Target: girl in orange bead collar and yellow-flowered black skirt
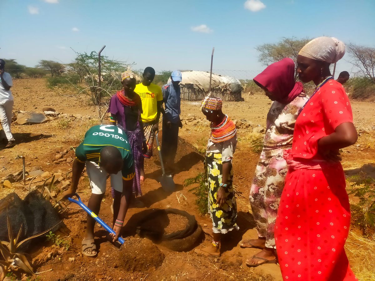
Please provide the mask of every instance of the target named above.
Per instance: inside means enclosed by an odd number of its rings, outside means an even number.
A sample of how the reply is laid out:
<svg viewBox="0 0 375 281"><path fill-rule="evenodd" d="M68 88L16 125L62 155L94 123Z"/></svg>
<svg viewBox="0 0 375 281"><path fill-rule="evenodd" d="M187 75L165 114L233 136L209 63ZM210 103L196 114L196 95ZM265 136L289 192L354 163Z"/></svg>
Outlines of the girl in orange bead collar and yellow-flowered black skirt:
<svg viewBox="0 0 375 281"><path fill-rule="evenodd" d="M195 249L202 256L220 256L222 234L238 230L237 203L234 194L232 159L237 145L237 130L228 115L222 112L223 102L218 97L207 97L202 112L211 122L211 136L205 155L205 173L208 188L208 212L212 228L203 232L213 238L207 248Z"/></svg>

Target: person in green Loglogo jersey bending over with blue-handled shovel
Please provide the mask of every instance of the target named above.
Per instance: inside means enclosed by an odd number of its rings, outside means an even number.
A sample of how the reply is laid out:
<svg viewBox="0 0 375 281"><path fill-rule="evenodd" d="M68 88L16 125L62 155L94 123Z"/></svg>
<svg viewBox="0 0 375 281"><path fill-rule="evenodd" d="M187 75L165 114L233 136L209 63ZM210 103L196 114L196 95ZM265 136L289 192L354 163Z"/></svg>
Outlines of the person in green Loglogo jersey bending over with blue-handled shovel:
<svg viewBox="0 0 375 281"><path fill-rule="evenodd" d="M75 160L72 169L72 184L64 191L61 199L74 196L78 181L86 166L92 194L88 207L98 215L107 183L107 174L111 177L114 188L113 230L110 236L113 242L121 234L124 218L132 198L133 178L135 176L134 161L126 133L113 125L97 125L91 127L85 134L83 142L75 150ZM59 200L61 200L59 199ZM87 215L87 229L82 241L82 253L95 257L98 252L94 242L95 220Z"/></svg>

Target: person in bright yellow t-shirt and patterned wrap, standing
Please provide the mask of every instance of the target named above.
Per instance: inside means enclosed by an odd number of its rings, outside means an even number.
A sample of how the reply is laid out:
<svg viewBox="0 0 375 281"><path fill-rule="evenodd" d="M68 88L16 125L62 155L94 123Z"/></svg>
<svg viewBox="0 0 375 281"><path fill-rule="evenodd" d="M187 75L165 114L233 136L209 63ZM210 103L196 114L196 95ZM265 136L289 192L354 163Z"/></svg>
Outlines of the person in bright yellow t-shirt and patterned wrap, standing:
<svg viewBox="0 0 375 281"><path fill-rule="evenodd" d="M135 86L134 92L141 97L144 136L147 143L145 158L152 157L155 132L159 130L160 113L163 107L163 94L158 85L152 83L155 78L155 70L148 66L143 72L143 81ZM140 182L144 181L144 165L141 167Z"/></svg>

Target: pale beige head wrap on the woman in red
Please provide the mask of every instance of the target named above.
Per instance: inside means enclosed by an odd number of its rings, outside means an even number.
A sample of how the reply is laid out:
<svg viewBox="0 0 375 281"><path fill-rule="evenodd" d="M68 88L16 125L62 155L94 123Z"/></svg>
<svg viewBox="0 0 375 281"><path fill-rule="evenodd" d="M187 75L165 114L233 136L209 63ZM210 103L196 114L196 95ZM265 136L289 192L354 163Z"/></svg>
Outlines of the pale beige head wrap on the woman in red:
<svg viewBox="0 0 375 281"><path fill-rule="evenodd" d="M318 37L303 46L298 54L318 61L336 63L344 57L345 44L335 37Z"/></svg>

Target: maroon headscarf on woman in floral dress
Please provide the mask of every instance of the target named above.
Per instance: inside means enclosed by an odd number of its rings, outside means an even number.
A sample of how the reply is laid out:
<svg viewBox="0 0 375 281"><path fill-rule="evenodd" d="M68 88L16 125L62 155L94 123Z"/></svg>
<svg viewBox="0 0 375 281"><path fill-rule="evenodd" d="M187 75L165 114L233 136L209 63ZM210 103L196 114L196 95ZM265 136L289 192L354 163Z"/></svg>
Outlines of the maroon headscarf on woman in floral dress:
<svg viewBox="0 0 375 281"><path fill-rule="evenodd" d="M267 66L253 80L258 86L271 92L278 102L288 104L303 92L302 83L294 79L295 70L294 61L283 58Z"/></svg>

